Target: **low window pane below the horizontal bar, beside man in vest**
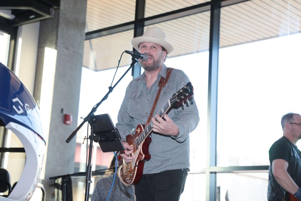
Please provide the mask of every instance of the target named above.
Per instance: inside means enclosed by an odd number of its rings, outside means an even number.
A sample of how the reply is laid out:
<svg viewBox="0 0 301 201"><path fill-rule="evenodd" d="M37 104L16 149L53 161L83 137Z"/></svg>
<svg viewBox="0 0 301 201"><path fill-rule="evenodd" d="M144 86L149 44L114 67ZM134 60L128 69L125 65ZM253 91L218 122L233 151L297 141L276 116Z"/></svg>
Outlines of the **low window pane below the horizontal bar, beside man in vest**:
<svg viewBox="0 0 301 201"><path fill-rule="evenodd" d="M266 201L268 173L219 173L216 177L216 200Z"/></svg>

